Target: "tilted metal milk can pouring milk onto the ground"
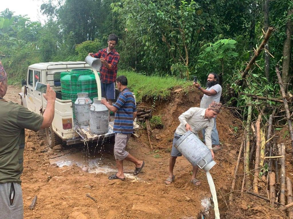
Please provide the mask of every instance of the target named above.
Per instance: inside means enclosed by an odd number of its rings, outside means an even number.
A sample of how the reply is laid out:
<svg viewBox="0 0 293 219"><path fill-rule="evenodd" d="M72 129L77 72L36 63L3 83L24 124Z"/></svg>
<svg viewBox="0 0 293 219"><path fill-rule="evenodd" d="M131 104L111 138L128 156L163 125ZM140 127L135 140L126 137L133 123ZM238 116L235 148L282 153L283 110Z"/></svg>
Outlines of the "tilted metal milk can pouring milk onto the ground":
<svg viewBox="0 0 293 219"><path fill-rule="evenodd" d="M191 131L187 131L182 135L174 147L176 147L193 166L198 166L206 172L216 164L207 146Z"/></svg>

